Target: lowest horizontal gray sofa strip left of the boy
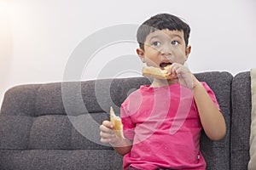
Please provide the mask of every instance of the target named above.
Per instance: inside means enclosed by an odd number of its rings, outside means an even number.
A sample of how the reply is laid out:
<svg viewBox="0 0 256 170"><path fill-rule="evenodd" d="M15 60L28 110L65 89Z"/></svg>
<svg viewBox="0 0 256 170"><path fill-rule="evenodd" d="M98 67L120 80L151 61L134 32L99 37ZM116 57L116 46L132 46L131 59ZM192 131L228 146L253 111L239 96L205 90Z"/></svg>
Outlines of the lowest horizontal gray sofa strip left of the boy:
<svg viewBox="0 0 256 170"><path fill-rule="evenodd" d="M1 150L0 169L84 170L121 169L113 150Z"/></svg>

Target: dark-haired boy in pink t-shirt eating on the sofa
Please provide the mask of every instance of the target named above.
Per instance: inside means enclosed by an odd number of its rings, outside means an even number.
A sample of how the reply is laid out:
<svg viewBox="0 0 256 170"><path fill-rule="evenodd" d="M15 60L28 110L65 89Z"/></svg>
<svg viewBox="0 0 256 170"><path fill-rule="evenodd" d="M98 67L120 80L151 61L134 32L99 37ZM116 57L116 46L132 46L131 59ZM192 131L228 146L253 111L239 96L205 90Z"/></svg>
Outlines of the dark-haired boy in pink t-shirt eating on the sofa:
<svg viewBox="0 0 256 170"><path fill-rule="evenodd" d="M173 77L154 78L121 105L125 139L102 122L101 141L124 156L124 169L206 169L199 150L201 128L212 140L226 133L215 95L184 66L189 57L189 26L172 14L157 14L137 31L137 54L148 66Z"/></svg>

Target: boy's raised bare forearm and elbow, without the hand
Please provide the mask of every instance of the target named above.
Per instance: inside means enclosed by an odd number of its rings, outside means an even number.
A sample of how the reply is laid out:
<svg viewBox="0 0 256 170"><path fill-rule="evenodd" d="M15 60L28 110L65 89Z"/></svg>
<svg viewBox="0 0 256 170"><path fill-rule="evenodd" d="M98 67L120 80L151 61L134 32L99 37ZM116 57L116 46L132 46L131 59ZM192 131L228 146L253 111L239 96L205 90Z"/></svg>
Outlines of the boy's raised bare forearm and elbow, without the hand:
<svg viewBox="0 0 256 170"><path fill-rule="evenodd" d="M218 111L206 88L203 87L194 75L192 75L194 86L191 89L194 94L195 103L199 111L202 127L207 137L212 140L223 139L226 133L224 116Z"/></svg>

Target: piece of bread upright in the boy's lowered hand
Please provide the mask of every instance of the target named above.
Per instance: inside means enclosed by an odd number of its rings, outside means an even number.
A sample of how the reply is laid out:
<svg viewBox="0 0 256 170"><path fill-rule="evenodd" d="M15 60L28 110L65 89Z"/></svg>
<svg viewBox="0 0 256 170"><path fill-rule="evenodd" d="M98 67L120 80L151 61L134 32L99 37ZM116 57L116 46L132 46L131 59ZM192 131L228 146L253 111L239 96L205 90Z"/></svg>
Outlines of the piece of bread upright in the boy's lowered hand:
<svg viewBox="0 0 256 170"><path fill-rule="evenodd" d="M115 136L117 138L125 139L121 118L114 114L112 107L110 107L110 122L113 124L113 131Z"/></svg>

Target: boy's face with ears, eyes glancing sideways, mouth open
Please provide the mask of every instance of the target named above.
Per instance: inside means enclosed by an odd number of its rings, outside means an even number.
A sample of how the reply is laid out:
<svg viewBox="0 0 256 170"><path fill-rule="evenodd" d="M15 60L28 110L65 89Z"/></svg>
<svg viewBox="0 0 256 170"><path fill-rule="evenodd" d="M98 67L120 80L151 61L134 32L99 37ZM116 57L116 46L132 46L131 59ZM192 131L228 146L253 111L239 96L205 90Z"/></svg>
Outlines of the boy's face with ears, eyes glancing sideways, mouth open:
<svg viewBox="0 0 256 170"><path fill-rule="evenodd" d="M137 48L137 54L148 66L163 68L172 63L184 64L191 47L186 47L183 31L158 30L146 37L144 50Z"/></svg>

